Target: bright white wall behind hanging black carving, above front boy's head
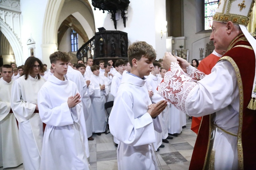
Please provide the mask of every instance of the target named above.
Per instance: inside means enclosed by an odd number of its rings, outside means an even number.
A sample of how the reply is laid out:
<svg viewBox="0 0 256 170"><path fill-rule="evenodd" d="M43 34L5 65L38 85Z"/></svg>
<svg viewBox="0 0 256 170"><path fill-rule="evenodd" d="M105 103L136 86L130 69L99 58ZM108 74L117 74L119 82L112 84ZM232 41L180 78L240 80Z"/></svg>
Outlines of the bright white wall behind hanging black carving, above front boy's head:
<svg viewBox="0 0 256 170"><path fill-rule="evenodd" d="M119 15L117 30L128 33L128 45L136 40L146 41L155 48L157 58L162 58L166 51L166 33L161 39L160 25L161 22L165 23L166 21L165 0L130 0L127 14L126 28L121 15ZM106 30L115 30L114 22L110 18L111 15L108 12L105 11L103 14L96 8L94 11L96 32L100 27L104 27Z"/></svg>

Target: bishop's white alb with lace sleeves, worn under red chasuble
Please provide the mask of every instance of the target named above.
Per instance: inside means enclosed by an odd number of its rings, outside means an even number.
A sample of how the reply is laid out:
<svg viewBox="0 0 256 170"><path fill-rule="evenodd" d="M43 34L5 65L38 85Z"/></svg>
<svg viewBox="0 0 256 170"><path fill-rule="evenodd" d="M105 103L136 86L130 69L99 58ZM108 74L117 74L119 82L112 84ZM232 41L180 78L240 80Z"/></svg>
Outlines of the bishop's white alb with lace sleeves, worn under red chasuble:
<svg viewBox="0 0 256 170"><path fill-rule="evenodd" d="M238 133L239 126L239 90L236 73L228 61L219 61L204 77L204 73L196 68L187 67L184 73L176 63L171 64L171 71L165 74L165 82L161 83L158 91L169 102L182 112L195 117L212 114L212 122L218 127ZM175 75L175 76L173 76ZM182 77L183 83L176 86L179 93L166 91L170 83L176 82L176 77ZM191 79L191 78L194 78ZM203 78L204 77L204 78ZM172 79L173 78L173 79ZM172 80L171 80L172 79ZM200 80L201 79L201 80ZM173 96L167 97L170 93ZM215 113L215 114L213 114ZM215 136L215 169L238 169L237 137L221 130L213 129ZM211 141L213 142L213 141Z"/></svg>

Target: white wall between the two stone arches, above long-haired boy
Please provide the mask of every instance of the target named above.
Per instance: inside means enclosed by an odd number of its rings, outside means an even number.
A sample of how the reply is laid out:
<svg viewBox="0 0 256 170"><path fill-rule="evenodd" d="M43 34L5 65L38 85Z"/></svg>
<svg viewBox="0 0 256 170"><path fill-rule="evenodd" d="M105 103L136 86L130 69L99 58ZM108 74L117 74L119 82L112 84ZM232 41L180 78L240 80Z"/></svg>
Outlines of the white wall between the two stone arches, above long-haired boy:
<svg viewBox="0 0 256 170"><path fill-rule="evenodd" d="M42 28L47 1L20 0L20 10L22 11L22 46L24 62L29 57L27 40L32 37L35 41L35 57L42 60ZM48 63L47 63L48 64Z"/></svg>

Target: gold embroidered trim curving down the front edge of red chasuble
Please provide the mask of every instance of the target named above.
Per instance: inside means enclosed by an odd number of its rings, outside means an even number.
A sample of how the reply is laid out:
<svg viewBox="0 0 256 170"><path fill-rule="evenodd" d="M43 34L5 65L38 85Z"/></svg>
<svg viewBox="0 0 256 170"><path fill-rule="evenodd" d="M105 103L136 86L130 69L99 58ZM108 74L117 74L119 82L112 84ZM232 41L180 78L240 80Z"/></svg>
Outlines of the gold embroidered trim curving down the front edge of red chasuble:
<svg viewBox="0 0 256 170"><path fill-rule="evenodd" d="M237 83L238 83L238 89L239 89L239 125L238 125L238 133L237 133L237 152L238 152L238 166L239 169L244 169L243 167L243 146L242 146L242 126L243 126L243 84L242 84L242 78L239 71L239 68L237 64L234 62L234 60L229 56L223 56L220 60L227 60L229 61L232 66L234 67L234 70L236 72L237 77Z"/></svg>

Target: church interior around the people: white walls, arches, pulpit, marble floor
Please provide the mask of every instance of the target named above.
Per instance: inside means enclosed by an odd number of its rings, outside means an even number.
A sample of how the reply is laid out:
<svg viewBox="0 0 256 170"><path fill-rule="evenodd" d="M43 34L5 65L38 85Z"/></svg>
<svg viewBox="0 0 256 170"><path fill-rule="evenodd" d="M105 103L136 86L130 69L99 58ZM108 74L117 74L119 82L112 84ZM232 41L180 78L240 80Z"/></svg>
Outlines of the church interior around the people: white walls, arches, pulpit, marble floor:
<svg viewBox="0 0 256 170"><path fill-rule="evenodd" d="M51 65L49 55L67 52L72 63L127 59L128 46L146 41L157 58L166 51L202 60L214 50L209 37L219 0L0 0L0 66L24 65L29 56ZM256 31L256 5L248 31ZM48 67L49 68L49 67ZM188 169L196 133L186 128L157 153L162 169ZM109 134L89 141L91 169L117 169ZM23 169L20 165L16 168ZM0 168L2 170L2 167Z"/></svg>

